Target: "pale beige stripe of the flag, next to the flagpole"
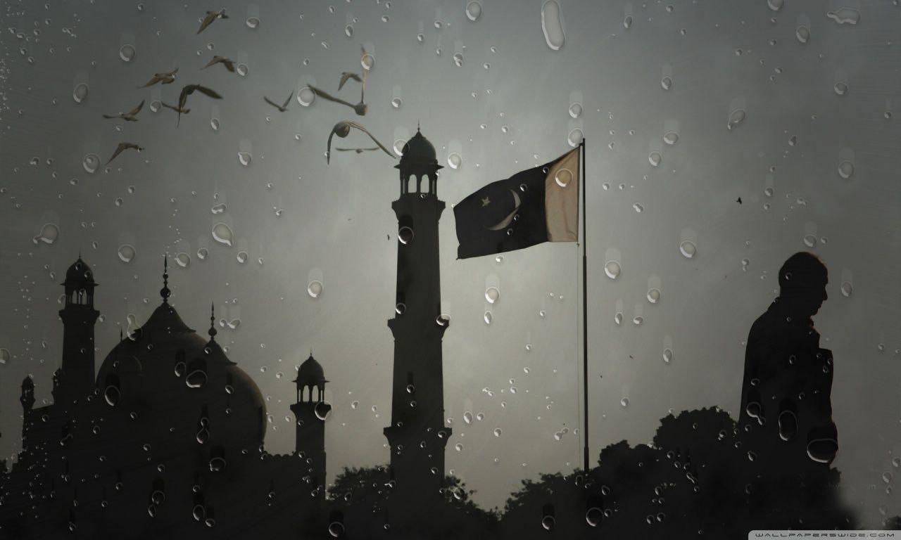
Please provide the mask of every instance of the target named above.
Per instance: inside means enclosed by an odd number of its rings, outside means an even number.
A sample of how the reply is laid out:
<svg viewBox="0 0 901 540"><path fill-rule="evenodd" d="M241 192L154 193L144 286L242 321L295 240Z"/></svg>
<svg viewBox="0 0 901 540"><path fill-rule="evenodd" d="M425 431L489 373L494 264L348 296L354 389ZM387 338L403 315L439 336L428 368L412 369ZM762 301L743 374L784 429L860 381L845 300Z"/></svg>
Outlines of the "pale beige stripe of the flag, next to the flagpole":
<svg viewBox="0 0 901 540"><path fill-rule="evenodd" d="M544 179L544 211L551 242L578 242L580 149L560 157Z"/></svg>

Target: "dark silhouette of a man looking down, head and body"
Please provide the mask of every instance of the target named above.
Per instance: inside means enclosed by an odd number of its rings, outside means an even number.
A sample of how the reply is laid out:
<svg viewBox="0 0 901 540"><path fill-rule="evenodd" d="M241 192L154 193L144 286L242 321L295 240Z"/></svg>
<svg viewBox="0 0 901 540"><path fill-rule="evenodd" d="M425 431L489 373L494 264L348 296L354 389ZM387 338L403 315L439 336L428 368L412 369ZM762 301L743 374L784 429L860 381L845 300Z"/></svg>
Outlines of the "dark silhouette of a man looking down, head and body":
<svg viewBox="0 0 901 540"><path fill-rule="evenodd" d="M828 272L815 255L799 252L778 279L778 298L748 336L739 429L749 451L767 454L762 461L776 460L786 471L816 469L838 452L833 355L820 348L811 320L827 298Z"/></svg>

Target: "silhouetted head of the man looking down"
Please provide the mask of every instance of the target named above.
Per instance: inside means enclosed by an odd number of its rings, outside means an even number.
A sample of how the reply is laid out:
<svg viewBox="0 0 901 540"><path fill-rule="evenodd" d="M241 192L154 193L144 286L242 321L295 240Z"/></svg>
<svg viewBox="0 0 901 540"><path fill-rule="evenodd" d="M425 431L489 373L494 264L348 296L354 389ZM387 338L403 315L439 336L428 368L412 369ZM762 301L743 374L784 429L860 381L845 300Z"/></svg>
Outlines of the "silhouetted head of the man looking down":
<svg viewBox="0 0 901 540"><path fill-rule="evenodd" d="M799 315L811 317L828 298L829 271L813 253L799 251L779 269L779 300Z"/></svg>

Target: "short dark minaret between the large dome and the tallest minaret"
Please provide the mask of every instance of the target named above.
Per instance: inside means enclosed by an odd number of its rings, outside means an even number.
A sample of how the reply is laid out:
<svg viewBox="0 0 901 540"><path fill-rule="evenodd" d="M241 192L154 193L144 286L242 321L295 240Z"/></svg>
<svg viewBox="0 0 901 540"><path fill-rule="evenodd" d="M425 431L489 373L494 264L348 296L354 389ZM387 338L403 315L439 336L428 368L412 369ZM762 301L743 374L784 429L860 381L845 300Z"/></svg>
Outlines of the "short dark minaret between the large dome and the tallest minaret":
<svg viewBox="0 0 901 540"><path fill-rule="evenodd" d="M300 365L297 378L297 401L291 412L297 420L295 450L303 459L305 473L309 473L318 497L325 495L325 419L332 406L325 402L325 374L310 352Z"/></svg>

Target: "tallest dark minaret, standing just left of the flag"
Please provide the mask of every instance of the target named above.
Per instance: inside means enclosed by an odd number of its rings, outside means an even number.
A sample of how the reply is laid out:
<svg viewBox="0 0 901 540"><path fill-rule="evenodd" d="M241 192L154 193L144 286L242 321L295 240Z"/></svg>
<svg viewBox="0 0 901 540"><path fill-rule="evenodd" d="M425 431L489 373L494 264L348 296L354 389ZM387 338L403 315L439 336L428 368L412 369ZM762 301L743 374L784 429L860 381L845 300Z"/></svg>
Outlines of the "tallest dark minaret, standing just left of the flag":
<svg viewBox="0 0 901 540"><path fill-rule="evenodd" d="M397 293L391 425L391 473L405 500L438 497L444 478L444 446L451 428L444 426L441 338L449 320L441 317L441 275L435 148L417 129L404 146L400 164L397 214ZM411 181L414 180L414 184ZM415 190L415 191L414 191Z"/></svg>

